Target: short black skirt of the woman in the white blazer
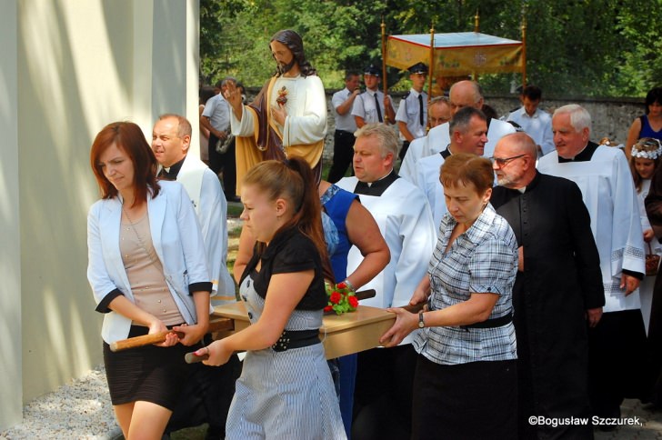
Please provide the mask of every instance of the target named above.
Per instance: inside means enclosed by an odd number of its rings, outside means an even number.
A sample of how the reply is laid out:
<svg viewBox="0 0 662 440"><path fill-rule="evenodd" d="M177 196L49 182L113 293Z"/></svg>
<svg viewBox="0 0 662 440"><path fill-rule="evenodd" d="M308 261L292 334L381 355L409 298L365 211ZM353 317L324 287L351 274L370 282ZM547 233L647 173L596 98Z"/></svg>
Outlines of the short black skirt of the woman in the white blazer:
<svg viewBox="0 0 662 440"><path fill-rule="evenodd" d="M147 327L132 325L128 337L146 335ZM104 343L105 377L113 405L137 400L173 410L191 370L184 355L197 346L177 344L171 347L147 345L121 352L111 352Z"/></svg>

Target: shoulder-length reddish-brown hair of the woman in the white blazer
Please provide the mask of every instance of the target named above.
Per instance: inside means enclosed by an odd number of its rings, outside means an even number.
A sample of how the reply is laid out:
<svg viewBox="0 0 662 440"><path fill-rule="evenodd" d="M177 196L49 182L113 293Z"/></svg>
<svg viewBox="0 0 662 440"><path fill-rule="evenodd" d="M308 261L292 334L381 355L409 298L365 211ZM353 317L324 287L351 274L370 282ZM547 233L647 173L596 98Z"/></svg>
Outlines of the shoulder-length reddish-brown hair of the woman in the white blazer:
<svg viewBox="0 0 662 440"><path fill-rule="evenodd" d="M99 163L101 155L113 144L123 150L134 165L134 204L137 201L146 200L148 191L153 197L158 195L161 189L156 182L158 162L156 162L152 148L145 140L143 131L132 122L114 122L105 125L96 135L90 151L90 165L95 173L101 198L110 199L117 195L117 189L105 178L104 171Z"/></svg>

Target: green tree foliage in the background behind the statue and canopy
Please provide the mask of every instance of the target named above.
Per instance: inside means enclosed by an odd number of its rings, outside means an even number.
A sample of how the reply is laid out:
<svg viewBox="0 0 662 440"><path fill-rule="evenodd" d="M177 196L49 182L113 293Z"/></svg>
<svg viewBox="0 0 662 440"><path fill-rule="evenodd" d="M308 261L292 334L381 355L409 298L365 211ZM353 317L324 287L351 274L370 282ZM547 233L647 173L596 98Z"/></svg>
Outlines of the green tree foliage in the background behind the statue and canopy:
<svg viewBox="0 0 662 440"><path fill-rule="evenodd" d="M527 23L527 77L546 95L644 95L662 74L662 0L201 0L201 73L206 83L234 75L262 85L274 72L268 42L279 29L304 37L306 56L326 87L348 70L381 63L388 35L474 30L521 39ZM389 85L407 88L389 69ZM517 75L518 76L518 75ZM485 75L490 93L507 93L516 75Z"/></svg>

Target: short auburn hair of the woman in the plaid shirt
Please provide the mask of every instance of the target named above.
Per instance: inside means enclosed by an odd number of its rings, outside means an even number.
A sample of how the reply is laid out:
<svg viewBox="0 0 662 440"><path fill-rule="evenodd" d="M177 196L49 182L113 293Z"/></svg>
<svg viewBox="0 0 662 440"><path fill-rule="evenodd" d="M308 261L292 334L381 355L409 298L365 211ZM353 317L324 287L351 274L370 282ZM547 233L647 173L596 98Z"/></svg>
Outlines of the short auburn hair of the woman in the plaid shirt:
<svg viewBox="0 0 662 440"><path fill-rule="evenodd" d="M494 171L492 162L485 157L458 153L450 155L441 165L439 181L444 186L455 187L459 182L463 185L473 184L480 195L494 186Z"/></svg>

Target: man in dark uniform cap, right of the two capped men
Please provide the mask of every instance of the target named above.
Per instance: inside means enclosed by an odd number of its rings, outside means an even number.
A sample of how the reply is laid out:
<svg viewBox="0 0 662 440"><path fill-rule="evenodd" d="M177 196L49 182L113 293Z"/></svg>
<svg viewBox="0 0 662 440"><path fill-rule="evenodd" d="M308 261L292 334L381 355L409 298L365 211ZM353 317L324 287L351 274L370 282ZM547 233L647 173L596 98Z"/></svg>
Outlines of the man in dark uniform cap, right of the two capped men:
<svg viewBox="0 0 662 440"><path fill-rule="evenodd" d="M403 140L400 150L400 159L404 159L406 150L411 141L423 137L427 133L427 94L423 91L426 85L427 66L416 63L409 67L409 79L412 82L411 90L402 98L397 107L396 121L400 131L400 139Z"/></svg>

